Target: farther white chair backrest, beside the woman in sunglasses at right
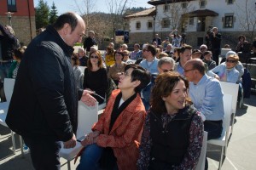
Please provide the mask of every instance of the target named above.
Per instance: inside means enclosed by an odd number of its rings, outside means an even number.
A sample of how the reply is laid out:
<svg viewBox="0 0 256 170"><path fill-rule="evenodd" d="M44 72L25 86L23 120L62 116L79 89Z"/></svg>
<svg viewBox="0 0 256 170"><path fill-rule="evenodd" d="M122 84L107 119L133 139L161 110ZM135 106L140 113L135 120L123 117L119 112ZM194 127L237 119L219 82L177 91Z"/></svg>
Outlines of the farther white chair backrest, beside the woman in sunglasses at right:
<svg viewBox="0 0 256 170"><path fill-rule="evenodd" d="M239 84L231 82L220 82L220 86L224 94L232 95L232 113L236 113Z"/></svg>

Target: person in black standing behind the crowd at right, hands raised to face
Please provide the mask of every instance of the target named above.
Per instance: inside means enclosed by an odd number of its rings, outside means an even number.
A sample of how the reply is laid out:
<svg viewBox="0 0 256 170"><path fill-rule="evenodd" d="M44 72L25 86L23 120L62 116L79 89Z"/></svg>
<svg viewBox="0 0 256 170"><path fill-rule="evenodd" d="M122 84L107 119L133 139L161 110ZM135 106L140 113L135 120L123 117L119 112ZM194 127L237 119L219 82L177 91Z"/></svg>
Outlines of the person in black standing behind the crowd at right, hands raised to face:
<svg viewBox="0 0 256 170"><path fill-rule="evenodd" d="M218 55L220 54L220 44L221 44L221 34L218 33L218 28L213 27L212 32L210 34L210 42L212 44L212 57L213 60L216 62L216 65L218 65Z"/></svg>

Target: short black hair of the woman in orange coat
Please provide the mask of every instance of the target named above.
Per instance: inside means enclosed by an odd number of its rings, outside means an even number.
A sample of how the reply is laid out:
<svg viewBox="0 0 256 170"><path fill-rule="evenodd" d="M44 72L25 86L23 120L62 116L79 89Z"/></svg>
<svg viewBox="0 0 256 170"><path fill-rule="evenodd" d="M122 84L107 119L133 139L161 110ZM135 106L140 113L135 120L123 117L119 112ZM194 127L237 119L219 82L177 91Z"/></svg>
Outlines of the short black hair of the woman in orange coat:
<svg viewBox="0 0 256 170"><path fill-rule="evenodd" d="M143 67L135 64L126 65L125 71L130 68L133 69L131 72L131 82L135 82L137 80L141 82L136 88L134 88L134 91L139 93L150 82L150 73Z"/></svg>

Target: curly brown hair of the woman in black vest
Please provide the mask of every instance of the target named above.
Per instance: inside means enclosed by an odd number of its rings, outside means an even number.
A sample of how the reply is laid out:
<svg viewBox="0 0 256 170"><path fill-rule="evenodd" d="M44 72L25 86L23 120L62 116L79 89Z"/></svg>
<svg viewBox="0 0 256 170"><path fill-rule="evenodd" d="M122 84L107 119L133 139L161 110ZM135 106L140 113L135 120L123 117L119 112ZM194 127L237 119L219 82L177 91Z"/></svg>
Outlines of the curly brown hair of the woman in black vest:
<svg viewBox="0 0 256 170"><path fill-rule="evenodd" d="M183 81L185 87L187 89L189 88L188 80L175 71L160 73L160 75L156 77L150 99L152 111L160 114L167 111L165 102L162 98L169 96L179 81Z"/></svg>

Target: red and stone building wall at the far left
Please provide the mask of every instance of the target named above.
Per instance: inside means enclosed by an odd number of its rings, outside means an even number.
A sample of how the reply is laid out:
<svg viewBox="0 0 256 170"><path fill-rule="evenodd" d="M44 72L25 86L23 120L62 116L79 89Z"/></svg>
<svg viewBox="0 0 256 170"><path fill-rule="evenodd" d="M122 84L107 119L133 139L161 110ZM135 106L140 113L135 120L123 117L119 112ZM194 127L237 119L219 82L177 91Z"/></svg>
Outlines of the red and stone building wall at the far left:
<svg viewBox="0 0 256 170"><path fill-rule="evenodd" d="M17 12L13 12L11 23L15 37L27 45L36 37L35 9L33 0L16 0ZM0 22L9 25L7 0L0 1ZM30 16L30 17L29 17Z"/></svg>

